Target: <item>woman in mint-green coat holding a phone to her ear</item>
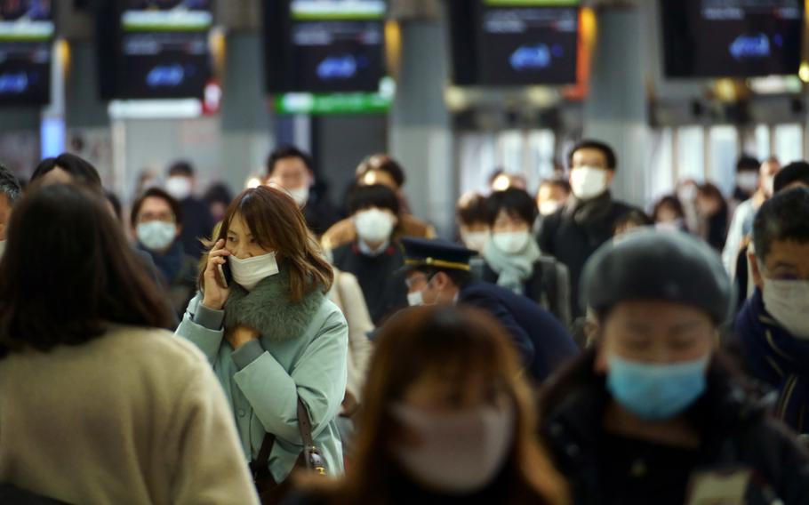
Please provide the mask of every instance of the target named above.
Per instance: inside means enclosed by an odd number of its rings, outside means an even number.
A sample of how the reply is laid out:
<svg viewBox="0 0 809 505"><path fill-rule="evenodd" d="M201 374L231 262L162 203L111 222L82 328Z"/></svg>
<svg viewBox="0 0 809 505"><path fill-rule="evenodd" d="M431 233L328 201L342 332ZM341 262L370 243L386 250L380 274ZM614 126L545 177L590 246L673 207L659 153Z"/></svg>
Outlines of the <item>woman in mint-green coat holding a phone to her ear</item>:
<svg viewBox="0 0 809 505"><path fill-rule="evenodd" d="M277 188L237 196L214 240L201 293L176 334L211 362L253 467L262 461L274 482L284 483L303 449L300 403L326 473L340 474L336 418L346 391L348 326L325 295L331 266L297 204ZM262 445L271 447L268 458Z"/></svg>

